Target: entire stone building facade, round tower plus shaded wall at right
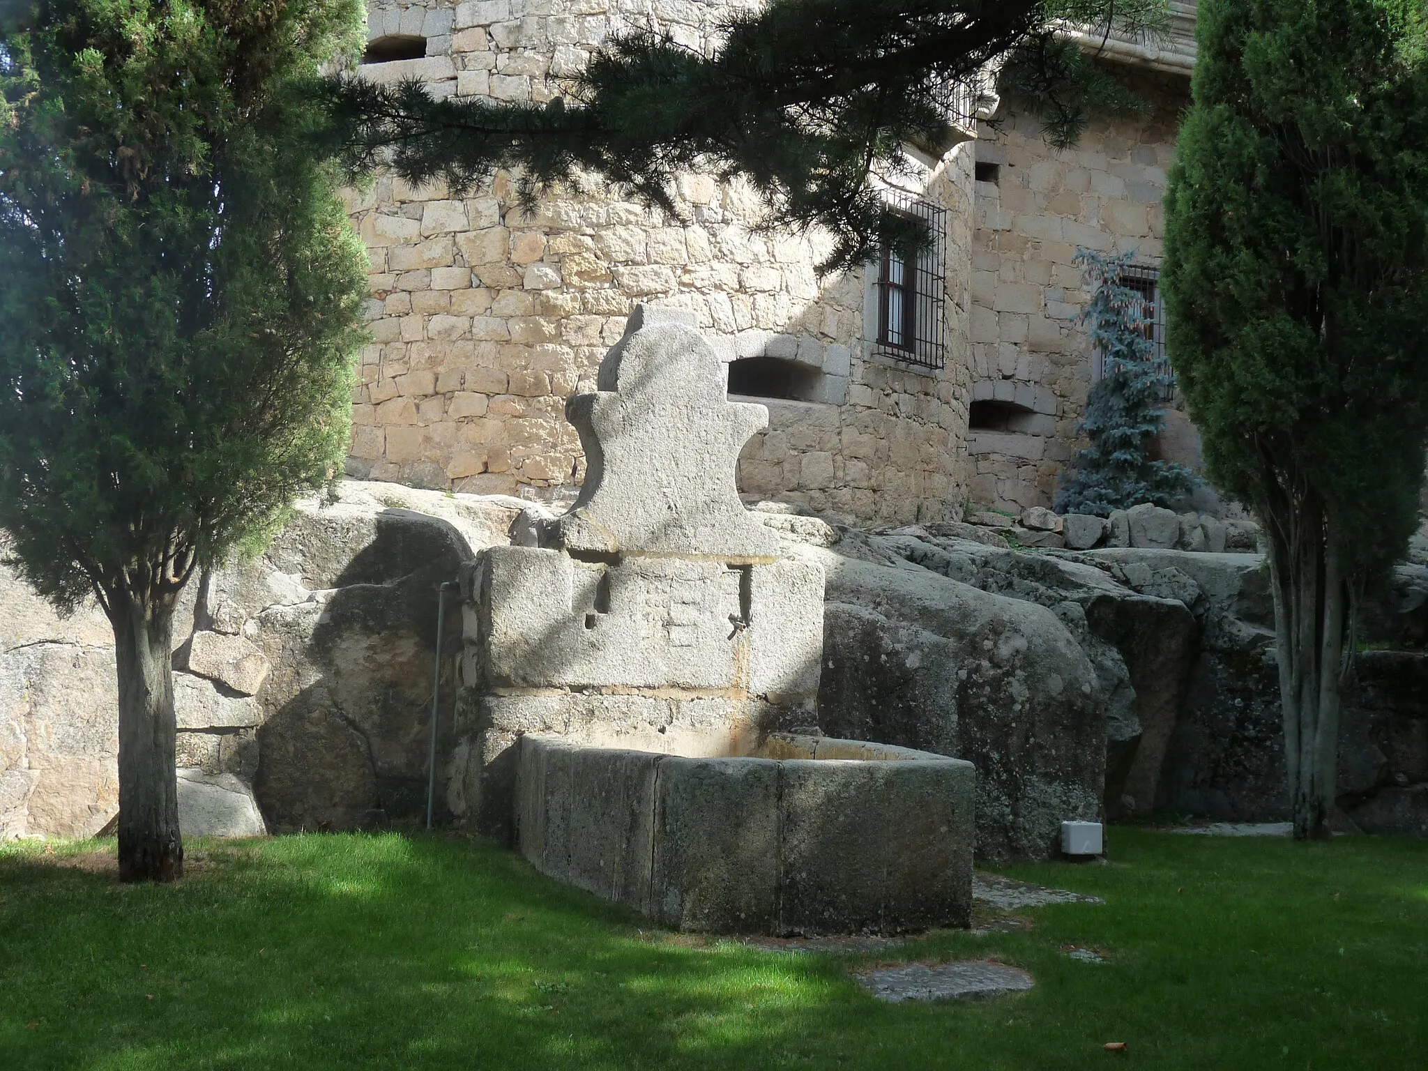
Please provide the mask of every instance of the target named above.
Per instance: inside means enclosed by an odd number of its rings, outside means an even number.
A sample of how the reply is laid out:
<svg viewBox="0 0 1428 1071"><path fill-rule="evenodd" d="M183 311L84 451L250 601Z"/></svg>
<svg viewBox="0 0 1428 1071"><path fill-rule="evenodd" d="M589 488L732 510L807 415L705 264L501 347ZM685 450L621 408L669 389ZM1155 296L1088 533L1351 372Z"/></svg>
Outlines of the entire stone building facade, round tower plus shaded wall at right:
<svg viewBox="0 0 1428 1071"><path fill-rule="evenodd" d="M611 34L651 29L711 50L758 0L413 0L368 13L366 77L437 94L548 100ZM456 491L567 497L584 458L564 400L591 390L635 301L693 310L730 393L768 428L740 460L745 494L865 523L957 517L968 501L1047 504L1091 377L1075 248L1160 254L1194 9L1178 37L1107 61L1155 101L1092 121L1057 153L1032 117L970 107L952 144L908 149L887 196L928 221L920 264L884 257L820 277L818 234L760 231L741 183L683 176L675 214L598 180L534 214L500 173L453 197L383 177L350 194L371 256L348 473Z"/></svg>

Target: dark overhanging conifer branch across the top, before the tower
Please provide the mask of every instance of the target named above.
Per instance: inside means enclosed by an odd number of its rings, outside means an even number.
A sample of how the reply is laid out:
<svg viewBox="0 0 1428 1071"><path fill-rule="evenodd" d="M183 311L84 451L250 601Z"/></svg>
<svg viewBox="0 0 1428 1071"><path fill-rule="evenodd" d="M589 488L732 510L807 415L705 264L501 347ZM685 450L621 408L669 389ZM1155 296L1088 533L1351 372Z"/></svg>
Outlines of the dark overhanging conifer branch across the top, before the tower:
<svg viewBox="0 0 1428 1071"><path fill-rule="evenodd" d="M348 163L390 164L411 183L460 190L513 169L530 204L598 174L673 211L680 171L744 176L771 224L834 236L827 270L921 243L867 178L901 169L905 144L951 143L951 87L1000 66L1048 139L1070 144L1088 109L1140 101L1060 27L1140 34L1164 19L1164 0L770 0L731 16L711 56L654 33L615 37L544 104L436 100L418 81L356 77L330 81L327 97Z"/></svg>

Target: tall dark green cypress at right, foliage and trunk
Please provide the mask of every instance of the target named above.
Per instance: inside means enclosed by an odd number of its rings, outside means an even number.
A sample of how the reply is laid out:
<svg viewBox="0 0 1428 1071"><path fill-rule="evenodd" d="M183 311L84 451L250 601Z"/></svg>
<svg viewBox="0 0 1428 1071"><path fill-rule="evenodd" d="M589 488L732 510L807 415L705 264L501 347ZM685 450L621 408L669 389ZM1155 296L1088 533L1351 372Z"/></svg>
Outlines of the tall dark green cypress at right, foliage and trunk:
<svg viewBox="0 0 1428 1071"><path fill-rule="evenodd" d="M1202 0L1167 193L1170 356L1268 544L1295 837L1327 837L1354 610L1428 441L1421 0Z"/></svg>

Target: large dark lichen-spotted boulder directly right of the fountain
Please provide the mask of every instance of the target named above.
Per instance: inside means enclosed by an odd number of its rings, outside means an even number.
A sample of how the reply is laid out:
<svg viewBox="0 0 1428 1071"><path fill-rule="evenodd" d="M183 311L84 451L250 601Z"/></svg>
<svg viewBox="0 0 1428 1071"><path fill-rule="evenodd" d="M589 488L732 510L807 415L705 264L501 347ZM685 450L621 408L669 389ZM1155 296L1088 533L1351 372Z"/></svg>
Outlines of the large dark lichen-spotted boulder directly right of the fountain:
<svg viewBox="0 0 1428 1071"><path fill-rule="evenodd" d="M1062 820L1097 818L1100 688L1055 614L837 550L803 550L827 574L820 728L970 760L980 860L1047 858Z"/></svg>

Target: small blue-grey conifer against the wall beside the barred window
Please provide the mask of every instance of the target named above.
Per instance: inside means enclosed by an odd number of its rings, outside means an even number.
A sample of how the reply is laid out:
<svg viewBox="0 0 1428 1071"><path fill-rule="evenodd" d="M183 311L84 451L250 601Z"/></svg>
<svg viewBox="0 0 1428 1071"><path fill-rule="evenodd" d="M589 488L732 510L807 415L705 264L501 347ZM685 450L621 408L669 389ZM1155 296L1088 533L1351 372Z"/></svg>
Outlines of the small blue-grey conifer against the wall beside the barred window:
<svg viewBox="0 0 1428 1071"><path fill-rule="evenodd" d="M1144 296L1122 276L1134 254L1101 256L1077 250L1091 300L1081 323L1091 328L1091 346L1102 374L1087 396L1077 431L1091 440L1077 450L1057 487L1057 513L1108 517L1141 503L1168 506L1195 486L1195 476L1172 461L1152 461L1150 443L1165 427L1162 403L1174 383L1155 360Z"/></svg>

